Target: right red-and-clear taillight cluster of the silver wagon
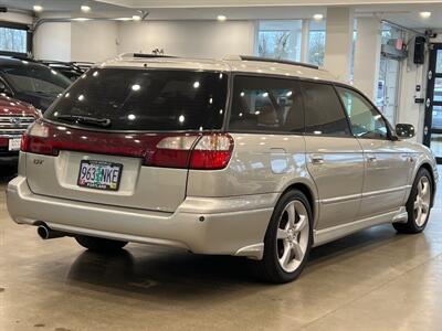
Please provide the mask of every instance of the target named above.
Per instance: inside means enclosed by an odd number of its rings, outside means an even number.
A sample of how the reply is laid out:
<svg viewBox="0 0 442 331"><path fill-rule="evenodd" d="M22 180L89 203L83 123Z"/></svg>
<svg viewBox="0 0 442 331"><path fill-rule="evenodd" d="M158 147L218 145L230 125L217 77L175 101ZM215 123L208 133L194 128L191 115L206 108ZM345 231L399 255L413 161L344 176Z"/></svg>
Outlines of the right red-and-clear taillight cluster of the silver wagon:
<svg viewBox="0 0 442 331"><path fill-rule="evenodd" d="M217 170L228 166L233 139L227 134L166 137L160 140L146 166Z"/></svg>

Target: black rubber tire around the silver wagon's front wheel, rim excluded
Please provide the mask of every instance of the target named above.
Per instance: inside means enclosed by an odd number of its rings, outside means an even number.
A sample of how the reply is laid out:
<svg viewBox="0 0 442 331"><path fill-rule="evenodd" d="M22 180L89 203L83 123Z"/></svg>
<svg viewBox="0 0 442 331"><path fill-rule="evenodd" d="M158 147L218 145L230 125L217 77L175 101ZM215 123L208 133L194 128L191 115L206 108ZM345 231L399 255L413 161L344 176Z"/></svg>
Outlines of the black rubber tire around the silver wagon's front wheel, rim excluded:
<svg viewBox="0 0 442 331"><path fill-rule="evenodd" d="M430 217L430 211L431 207L429 207L429 212L427 214L427 220L424 221L423 224L419 225L417 223L415 220L415 215L414 215L414 201L417 199L418 195L418 184L420 183L422 178L427 178L428 182L430 184L430 202L432 201L432 194L433 194L433 182L431 180L431 174L430 172L424 169L421 168L419 169L415 178L414 178L414 182L413 182L413 186L411 188L411 192L410 192L410 196L407 201L406 207L407 207L407 213L408 213L408 222L407 223L393 223L393 227L396 228L396 231L398 233L403 233L403 234L417 234L417 233L421 233L427 224L428 224L428 220Z"/></svg>

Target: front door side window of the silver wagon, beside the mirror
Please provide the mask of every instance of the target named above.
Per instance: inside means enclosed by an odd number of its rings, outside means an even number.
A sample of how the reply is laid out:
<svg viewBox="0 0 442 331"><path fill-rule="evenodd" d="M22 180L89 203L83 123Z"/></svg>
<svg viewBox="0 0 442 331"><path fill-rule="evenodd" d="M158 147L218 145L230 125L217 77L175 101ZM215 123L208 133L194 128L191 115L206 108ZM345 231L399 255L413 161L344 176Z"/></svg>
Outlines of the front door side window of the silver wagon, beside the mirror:
<svg viewBox="0 0 442 331"><path fill-rule="evenodd" d="M344 87L337 87L337 90L356 137L370 139L388 138L386 121L365 97L357 92Z"/></svg>

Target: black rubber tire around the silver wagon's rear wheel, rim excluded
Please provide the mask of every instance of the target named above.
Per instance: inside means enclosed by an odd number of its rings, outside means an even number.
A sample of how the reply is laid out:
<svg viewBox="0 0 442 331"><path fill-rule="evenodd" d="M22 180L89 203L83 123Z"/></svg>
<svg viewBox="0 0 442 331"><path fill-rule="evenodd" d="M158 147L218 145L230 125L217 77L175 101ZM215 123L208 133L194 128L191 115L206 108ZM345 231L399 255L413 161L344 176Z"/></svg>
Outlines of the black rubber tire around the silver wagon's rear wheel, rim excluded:
<svg viewBox="0 0 442 331"><path fill-rule="evenodd" d="M287 273L281 267L278 263L278 253L277 253L278 244L277 244L276 233L278 231L280 220L283 216L285 207L293 201L301 202L304 205L305 210L307 211L308 244L299 266L294 271ZM284 284L295 280L297 277L299 277L301 273L303 271L306 265L312 248L312 243L313 243L312 206L303 192L298 190L290 191L280 199L278 203L276 204L273 211L264 238L263 259L254 261L254 269L256 276L264 281L275 282L275 284Z"/></svg>

